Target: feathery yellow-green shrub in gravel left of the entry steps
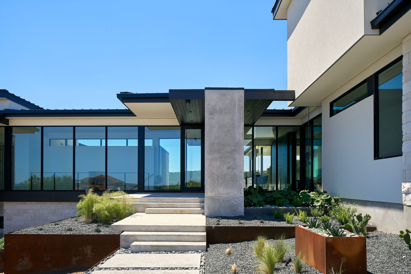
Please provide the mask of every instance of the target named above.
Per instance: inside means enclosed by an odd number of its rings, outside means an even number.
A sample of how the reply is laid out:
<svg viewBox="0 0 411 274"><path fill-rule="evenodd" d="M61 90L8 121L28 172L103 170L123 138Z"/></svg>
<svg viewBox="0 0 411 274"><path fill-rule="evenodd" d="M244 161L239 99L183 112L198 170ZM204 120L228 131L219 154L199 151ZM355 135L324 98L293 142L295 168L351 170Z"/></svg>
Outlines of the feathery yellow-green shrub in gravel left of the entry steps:
<svg viewBox="0 0 411 274"><path fill-rule="evenodd" d="M121 196L119 198L113 198ZM129 213L134 213L129 198L124 191L104 191L100 196L89 189L86 194L80 195L77 204L77 215L81 215L86 222L111 223L127 217ZM113 199L111 199L113 198Z"/></svg>

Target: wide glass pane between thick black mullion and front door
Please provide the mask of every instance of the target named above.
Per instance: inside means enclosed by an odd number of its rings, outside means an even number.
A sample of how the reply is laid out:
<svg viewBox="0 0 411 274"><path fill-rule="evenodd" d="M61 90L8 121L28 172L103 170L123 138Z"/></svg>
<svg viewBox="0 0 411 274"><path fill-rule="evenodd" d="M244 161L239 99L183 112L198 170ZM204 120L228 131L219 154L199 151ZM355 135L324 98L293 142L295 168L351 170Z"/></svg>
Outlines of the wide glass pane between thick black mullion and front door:
<svg viewBox="0 0 411 274"><path fill-rule="evenodd" d="M180 127L145 127L144 189L180 190Z"/></svg>

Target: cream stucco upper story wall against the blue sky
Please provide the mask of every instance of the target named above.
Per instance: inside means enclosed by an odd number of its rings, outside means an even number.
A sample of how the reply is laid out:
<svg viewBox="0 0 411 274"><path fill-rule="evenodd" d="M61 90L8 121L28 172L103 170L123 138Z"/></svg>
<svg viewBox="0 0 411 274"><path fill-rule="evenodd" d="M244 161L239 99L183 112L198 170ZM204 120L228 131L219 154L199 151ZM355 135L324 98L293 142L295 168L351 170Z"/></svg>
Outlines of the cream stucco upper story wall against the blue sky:
<svg viewBox="0 0 411 274"><path fill-rule="evenodd" d="M364 35L384 0L291 0L287 9L288 89L298 97Z"/></svg>

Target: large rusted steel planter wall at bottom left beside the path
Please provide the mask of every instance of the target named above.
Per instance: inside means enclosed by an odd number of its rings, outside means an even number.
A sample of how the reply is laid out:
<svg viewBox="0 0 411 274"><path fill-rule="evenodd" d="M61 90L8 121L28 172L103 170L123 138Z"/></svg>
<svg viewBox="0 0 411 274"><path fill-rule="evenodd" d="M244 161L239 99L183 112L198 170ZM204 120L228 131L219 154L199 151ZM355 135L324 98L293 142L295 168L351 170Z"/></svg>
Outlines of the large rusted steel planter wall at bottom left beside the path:
<svg viewBox="0 0 411 274"><path fill-rule="evenodd" d="M5 273L85 271L120 246L120 234L5 234Z"/></svg>

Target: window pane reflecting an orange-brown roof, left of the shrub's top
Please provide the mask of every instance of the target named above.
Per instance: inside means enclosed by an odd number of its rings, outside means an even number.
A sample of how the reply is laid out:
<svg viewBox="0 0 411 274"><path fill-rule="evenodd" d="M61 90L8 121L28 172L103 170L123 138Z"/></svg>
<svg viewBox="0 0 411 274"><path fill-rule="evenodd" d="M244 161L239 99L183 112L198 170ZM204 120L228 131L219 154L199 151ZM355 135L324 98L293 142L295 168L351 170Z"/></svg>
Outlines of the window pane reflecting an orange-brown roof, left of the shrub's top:
<svg viewBox="0 0 411 274"><path fill-rule="evenodd" d="M105 127L76 127L75 189L104 190L106 184Z"/></svg>

